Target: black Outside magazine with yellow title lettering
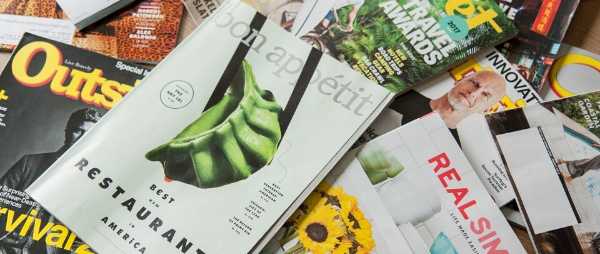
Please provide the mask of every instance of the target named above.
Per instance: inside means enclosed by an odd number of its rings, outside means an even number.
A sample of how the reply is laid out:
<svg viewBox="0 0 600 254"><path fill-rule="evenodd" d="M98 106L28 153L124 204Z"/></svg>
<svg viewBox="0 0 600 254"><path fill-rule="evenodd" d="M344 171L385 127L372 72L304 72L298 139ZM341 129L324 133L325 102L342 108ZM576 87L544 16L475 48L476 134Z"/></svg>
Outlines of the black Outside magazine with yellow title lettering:
<svg viewBox="0 0 600 254"><path fill-rule="evenodd" d="M0 75L0 253L91 252L24 191L147 72L23 36Z"/></svg>

